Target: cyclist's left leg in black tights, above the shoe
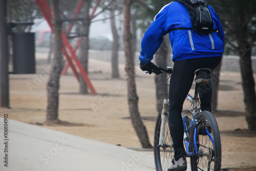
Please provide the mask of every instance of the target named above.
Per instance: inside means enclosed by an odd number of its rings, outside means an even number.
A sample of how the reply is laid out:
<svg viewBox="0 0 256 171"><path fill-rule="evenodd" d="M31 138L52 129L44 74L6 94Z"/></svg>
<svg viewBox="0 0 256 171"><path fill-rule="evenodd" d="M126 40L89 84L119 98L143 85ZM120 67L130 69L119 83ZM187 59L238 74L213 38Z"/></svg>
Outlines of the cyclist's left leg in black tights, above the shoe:
<svg viewBox="0 0 256 171"><path fill-rule="evenodd" d="M185 155L183 145L182 106L194 80L193 65L189 60L176 61L169 85L169 129L173 139L175 160Z"/></svg>

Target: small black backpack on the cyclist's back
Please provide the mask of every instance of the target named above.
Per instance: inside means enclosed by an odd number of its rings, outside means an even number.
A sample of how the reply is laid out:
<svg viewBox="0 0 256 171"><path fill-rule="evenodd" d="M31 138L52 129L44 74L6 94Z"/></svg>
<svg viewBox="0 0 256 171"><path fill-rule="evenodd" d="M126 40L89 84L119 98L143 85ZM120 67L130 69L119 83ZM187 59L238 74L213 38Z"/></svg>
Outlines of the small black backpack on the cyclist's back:
<svg viewBox="0 0 256 171"><path fill-rule="evenodd" d="M172 30L193 29L200 34L209 34L214 31L214 23L208 4L205 0L175 0L182 3L188 10L193 28L176 28Z"/></svg>

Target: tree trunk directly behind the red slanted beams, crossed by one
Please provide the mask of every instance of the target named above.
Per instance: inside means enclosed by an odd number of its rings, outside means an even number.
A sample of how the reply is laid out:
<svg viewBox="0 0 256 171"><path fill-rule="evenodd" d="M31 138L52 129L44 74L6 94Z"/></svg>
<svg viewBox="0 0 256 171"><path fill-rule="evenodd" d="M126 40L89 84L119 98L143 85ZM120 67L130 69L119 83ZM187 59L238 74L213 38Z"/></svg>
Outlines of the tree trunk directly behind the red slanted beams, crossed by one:
<svg viewBox="0 0 256 171"><path fill-rule="evenodd" d="M89 32L90 32L90 25L91 25L91 20L90 20L90 6L91 6L91 1L88 0L84 0L83 1L83 7L84 7L84 20L82 23L82 41L81 41L81 45L80 45L80 54L79 54L79 60L82 64L82 67L84 69L84 71L87 72L88 74L88 58L89 58ZM81 94L88 94L88 86L86 84L86 82L84 82L82 76L79 76L79 92Z"/></svg>

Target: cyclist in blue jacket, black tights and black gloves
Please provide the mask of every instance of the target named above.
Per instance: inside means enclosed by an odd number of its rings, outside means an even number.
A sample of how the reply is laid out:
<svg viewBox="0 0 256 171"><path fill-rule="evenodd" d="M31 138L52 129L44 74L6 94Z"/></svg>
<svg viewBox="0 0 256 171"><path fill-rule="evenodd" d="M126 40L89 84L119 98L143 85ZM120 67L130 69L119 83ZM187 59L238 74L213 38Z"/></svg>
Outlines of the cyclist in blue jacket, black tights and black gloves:
<svg viewBox="0 0 256 171"><path fill-rule="evenodd" d="M224 33L220 19L214 9L208 6L214 21L214 32L198 34L192 27L192 22L185 6L172 2L164 6L155 16L141 42L140 68L160 74L159 68L151 62L153 55L162 43L163 36L169 33L173 48L174 66L169 85L169 129L175 151L170 170L186 170L186 154L183 145L182 106L188 94L195 71L199 68L216 68L224 52ZM175 28L188 28L175 30ZM202 110L211 111L211 83L200 87L199 97Z"/></svg>

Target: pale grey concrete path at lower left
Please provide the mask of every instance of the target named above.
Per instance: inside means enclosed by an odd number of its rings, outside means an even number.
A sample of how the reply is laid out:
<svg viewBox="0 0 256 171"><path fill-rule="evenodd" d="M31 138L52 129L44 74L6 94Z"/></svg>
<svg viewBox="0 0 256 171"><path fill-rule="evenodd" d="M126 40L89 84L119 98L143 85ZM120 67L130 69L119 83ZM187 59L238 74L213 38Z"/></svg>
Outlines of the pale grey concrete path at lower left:
<svg viewBox="0 0 256 171"><path fill-rule="evenodd" d="M150 154L11 119L5 135L4 124L0 117L1 171L155 170Z"/></svg>

